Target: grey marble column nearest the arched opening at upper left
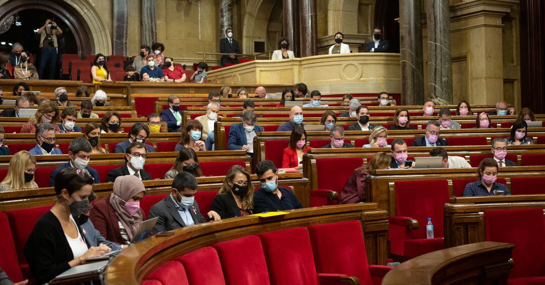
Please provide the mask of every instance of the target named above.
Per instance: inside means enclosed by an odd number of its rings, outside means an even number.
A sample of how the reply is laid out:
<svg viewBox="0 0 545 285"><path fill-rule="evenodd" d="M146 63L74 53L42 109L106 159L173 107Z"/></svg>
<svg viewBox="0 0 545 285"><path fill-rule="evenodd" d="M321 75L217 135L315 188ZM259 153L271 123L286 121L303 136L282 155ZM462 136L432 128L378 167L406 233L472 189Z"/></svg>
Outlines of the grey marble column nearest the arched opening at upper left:
<svg viewBox="0 0 545 285"><path fill-rule="evenodd" d="M129 0L116 0L112 7L112 54L127 54L127 34L129 28Z"/></svg>

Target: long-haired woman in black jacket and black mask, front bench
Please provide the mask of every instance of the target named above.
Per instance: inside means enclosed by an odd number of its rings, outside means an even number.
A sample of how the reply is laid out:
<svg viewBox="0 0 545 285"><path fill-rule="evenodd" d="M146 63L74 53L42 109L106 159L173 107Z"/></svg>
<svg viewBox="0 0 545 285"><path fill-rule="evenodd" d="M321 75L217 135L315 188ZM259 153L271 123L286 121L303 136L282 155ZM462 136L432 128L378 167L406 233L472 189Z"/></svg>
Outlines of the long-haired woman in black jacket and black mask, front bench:
<svg viewBox="0 0 545 285"><path fill-rule="evenodd" d="M250 173L240 165L229 169L223 185L210 207L221 219L251 215L253 209L253 185Z"/></svg>

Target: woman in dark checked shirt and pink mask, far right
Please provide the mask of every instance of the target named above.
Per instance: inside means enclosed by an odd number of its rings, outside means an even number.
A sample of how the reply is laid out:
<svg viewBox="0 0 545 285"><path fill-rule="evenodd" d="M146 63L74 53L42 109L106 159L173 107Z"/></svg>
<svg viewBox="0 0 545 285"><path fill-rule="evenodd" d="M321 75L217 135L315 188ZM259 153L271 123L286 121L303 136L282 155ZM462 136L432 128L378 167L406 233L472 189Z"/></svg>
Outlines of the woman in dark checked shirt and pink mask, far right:
<svg viewBox="0 0 545 285"><path fill-rule="evenodd" d="M498 163L492 158L483 159L477 169L479 180L465 185L464 197L511 195L504 184L496 182Z"/></svg>

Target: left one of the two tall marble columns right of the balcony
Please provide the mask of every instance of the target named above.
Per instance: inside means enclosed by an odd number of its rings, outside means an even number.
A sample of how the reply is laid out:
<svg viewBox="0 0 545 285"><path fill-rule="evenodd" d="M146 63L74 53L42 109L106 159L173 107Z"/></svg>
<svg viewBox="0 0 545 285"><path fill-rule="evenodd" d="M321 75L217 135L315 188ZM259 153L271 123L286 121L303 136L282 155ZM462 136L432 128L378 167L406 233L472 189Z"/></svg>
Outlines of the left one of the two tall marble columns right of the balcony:
<svg viewBox="0 0 545 285"><path fill-rule="evenodd" d="M399 1L401 104L424 104L422 0Z"/></svg>

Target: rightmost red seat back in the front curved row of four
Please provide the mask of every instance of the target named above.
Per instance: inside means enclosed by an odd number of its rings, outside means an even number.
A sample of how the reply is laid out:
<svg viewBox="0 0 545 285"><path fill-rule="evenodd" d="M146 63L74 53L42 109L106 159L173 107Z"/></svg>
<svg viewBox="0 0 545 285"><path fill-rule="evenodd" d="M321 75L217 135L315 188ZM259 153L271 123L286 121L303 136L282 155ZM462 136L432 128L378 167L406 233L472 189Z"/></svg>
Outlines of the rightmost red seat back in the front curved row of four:
<svg viewBox="0 0 545 285"><path fill-rule="evenodd" d="M307 229L319 273L356 276L362 285L373 285L359 221L325 223Z"/></svg>

